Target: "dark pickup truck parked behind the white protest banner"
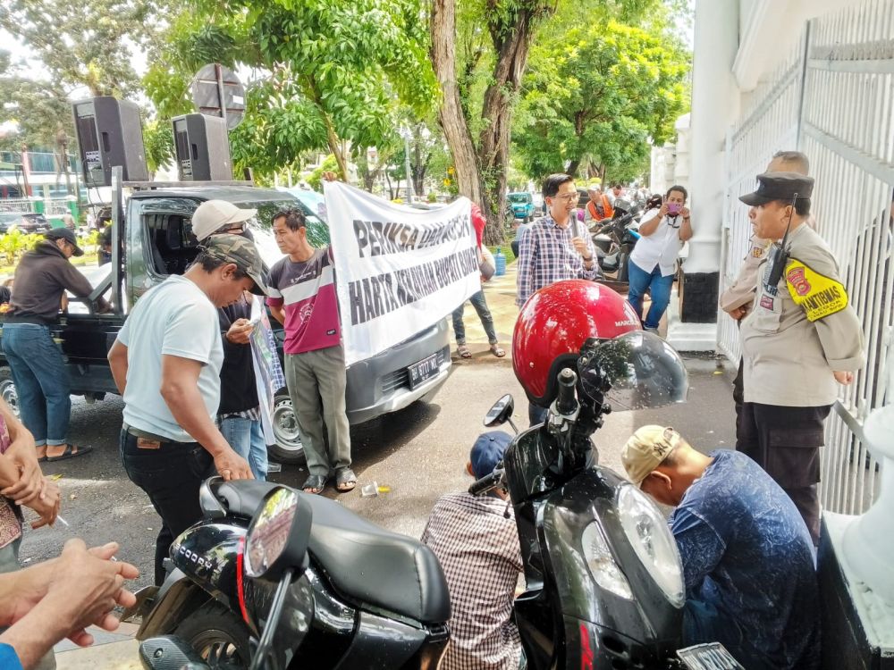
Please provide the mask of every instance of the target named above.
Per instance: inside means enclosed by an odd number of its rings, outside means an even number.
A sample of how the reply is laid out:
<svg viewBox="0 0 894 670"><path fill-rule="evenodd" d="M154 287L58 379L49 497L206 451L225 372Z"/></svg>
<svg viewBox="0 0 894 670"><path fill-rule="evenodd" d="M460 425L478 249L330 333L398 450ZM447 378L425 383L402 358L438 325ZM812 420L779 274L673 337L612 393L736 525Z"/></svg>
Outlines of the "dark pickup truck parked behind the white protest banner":
<svg viewBox="0 0 894 670"><path fill-rule="evenodd" d="M126 201L125 189L130 191ZM112 198L112 262L85 273L95 286L91 299L104 296L114 309L93 314L84 301L76 305L72 298L69 314L60 314L54 329L67 361L72 394L88 402L118 392L105 356L130 307L167 275L185 272L198 255L191 219L205 200L228 200L257 209L257 217L248 224L268 267L282 257L271 223L272 215L281 209L298 208L305 214L308 239L315 246L329 242L328 224L319 213L290 193L256 188L250 182L122 182L120 168L115 168ZM271 322L282 360L284 333L278 322ZM365 423L432 398L450 373L449 337L447 321L442 319L378 356L351 365L346 398L350 423ZM18 411L18 395L2 351L0 397ZM270 446L272 458L281 463L302 462L298 423L284 388L276 392L272 419L276 437L276 444Z"/></svg>

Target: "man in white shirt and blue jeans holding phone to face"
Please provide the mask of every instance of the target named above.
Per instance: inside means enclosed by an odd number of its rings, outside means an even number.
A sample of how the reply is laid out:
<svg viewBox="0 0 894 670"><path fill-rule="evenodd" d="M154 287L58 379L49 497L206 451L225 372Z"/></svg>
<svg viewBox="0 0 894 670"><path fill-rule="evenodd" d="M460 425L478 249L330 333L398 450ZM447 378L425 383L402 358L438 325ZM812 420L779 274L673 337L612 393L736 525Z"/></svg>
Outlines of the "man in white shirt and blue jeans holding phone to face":
<svg viewBox="0 0 894 670"><path fill-rule="evenodd" d="M652 297L643 322L646 331L658 332L658 324L671 302L679 249L692 237L686 198L686 188L671 186L661 207L643 216L639 225L641 238L630 254L627 299L640 319L646 289Z"/></svg>

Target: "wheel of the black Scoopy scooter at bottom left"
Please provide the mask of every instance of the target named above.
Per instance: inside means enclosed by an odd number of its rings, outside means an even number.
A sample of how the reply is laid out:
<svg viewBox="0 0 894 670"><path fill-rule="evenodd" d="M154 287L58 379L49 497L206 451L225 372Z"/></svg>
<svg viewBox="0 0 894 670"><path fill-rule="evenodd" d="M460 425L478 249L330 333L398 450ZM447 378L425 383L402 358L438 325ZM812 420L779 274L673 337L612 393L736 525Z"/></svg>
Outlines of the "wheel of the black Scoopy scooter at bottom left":
<svg viewBox="0 0 894 670"><path fill-rule="evenodd" d="M189 642L211 668L251 664L249 629L220 603L212 601L199 607L173 634Z"/></svg>

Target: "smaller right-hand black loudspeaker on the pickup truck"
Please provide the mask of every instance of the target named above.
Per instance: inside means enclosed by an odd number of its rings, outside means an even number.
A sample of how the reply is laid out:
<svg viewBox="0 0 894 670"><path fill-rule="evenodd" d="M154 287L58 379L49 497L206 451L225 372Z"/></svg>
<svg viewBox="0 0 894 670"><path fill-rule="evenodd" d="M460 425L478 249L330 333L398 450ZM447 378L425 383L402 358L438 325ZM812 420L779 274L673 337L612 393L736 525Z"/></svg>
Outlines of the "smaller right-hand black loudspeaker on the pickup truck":
<svg viewBox="0 0 894 670"><path fill-rule="evenodd" d="M226 121L217 116L175 116L173 144L181 181L230 181L230 140Z"/></svg>

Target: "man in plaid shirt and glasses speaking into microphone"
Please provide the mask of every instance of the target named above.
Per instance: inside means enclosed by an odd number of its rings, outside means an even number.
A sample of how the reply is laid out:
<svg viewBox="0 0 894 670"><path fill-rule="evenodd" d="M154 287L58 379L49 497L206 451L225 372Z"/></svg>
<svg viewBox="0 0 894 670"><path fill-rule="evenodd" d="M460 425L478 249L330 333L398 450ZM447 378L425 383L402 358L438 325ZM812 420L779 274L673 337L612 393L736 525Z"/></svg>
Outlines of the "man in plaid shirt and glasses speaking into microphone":
<svg viewBox="0 0 894 670"><path fill-rule="evenodd" d="M599 279L596 251L586 226L578 221L578 189L568 174L551 174L544 180L544 201L549 214L537 219L519 244L518 294L515 304L544 286L569 279Z"/></svg>

